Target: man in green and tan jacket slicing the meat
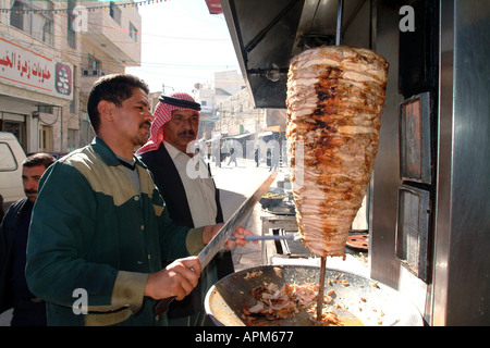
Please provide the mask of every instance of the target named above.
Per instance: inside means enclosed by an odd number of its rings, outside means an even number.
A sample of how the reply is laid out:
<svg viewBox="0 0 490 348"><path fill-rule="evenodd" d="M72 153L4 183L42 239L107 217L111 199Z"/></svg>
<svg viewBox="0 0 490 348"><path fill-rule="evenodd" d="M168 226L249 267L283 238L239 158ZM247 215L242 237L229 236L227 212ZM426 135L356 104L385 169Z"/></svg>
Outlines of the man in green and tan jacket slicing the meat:
<svg viewBox="0 0 490 348"><path fill-rule="evenodd" d="M47 302L49 325L166 325L158 299L182 300L201 271L197 254L220 225L187 228L169 219L150 172L133 156L148 137L147 85L100 78L88 98L94 141L42 176L27 245L27 284ZM250 234L238 227L236 241ZM175 260L177 259L177 260ZM168 260L175 260L167 264Z"/></svg>

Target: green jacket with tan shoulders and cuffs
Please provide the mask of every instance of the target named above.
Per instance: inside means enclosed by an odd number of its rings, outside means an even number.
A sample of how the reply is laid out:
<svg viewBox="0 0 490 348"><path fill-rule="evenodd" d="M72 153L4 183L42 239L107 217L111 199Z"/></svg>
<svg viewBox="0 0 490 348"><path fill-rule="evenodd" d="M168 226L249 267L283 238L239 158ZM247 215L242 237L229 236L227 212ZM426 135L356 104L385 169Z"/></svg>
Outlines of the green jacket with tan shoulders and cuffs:
<svg viewBox="0 0 490 348"><path fill-rule="evenodd" d="M136 167L140 195L96 137L39 182L26 278L47 301L49 325L167 324L144 297L148 274L168 260L196 254L204 247L201 228L174 225L150 172L137 159ZM88 306L81 308L87 314L77 311L79 304Z"/></svg>

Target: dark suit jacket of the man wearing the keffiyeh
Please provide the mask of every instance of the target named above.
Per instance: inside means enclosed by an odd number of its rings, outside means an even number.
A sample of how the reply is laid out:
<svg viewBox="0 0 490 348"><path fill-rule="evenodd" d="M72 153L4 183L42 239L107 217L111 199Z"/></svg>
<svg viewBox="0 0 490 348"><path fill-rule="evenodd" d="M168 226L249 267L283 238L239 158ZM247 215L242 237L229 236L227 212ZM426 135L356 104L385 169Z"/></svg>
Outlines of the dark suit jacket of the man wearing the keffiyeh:
<svg viewBox="0 0 490 348"><path fill-rule="evenodd" d="M158 150L142 153L140 159L152 173L155 184L166 201L169 215L173 222L191 228L196 227L188 208L184 185L163 142ZM223 222L223 211L218 189L216 189L216 204L218 208L216 222L221 223ZM213 260L217 263L218 278L234 272L230 251L217 254ZM199 282L197 287L184 300L172 302L168 315L169 318L182 318L203 310Z"/></svg>

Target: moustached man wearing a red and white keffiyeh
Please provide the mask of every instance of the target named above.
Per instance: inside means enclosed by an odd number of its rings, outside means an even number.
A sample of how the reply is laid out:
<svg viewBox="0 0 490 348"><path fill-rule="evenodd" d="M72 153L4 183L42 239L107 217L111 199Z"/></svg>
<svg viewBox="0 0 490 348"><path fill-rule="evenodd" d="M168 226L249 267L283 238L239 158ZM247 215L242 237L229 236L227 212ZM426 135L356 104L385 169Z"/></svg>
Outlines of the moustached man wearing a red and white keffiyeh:
<svg viewBox="0 0 490 348"><path fill-rule="evenodd" d="M223 222L219 191L209 167L194 151L199 111L200 104L185 92L161 96L155 110L150 138L136 152L154 174L170 217L187 227ZM189 175L196 164L200 175ZM203 175L203 170L206 175ZM230 251L215 257L203 271L198 286L184 300L170 306L170 325L206 325L203 302L207 290L219 278L233 272Z"/></svg>

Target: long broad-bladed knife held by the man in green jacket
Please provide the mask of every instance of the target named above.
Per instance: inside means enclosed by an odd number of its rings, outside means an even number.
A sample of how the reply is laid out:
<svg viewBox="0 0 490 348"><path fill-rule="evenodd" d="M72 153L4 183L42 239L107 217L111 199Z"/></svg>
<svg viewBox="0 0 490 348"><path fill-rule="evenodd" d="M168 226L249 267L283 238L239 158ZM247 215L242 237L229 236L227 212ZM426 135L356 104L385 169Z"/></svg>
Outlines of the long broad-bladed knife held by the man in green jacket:
<svg viewBox="0 0 490 348"><path fill-rule="evenodd" d="M197 258L199 259L200 266L204 270L209 261L217 254L221 247L226 243L231 234L238 227L242 220L252 211L259 199L266 194L270 185L278 176L277 172L272 172L267 179L257 188L257 190L233 213L233 215L226 221L226 223L220 228L220 231L212 237L212 239L206 245L206 247L199 252ZM169 297L159 300L154 307L155 314L161 315L169 310L169 304L175 299L175 297Z"/></svg>

